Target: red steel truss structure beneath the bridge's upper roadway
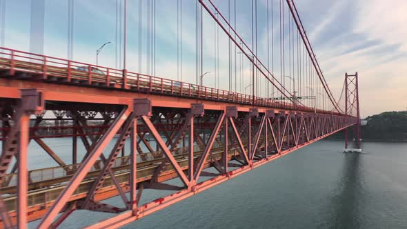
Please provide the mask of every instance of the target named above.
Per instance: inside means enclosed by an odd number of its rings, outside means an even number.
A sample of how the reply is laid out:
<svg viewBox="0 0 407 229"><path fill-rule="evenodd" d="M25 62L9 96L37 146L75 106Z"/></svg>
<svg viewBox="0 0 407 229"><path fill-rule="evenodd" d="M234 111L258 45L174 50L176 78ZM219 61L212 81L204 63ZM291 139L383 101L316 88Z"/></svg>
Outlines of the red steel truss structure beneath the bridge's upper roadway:
<svg viewBox="0 0 407 229"><path fill-rule="evenodd" d="M23 83L23 87L30 84ZM48 83L39 84L46 87ZM77 209L117 213L91 226L116 228L357 123L355 117L347 115L215 101L168 102L158 97L106 95L103 101L109 102L101 103L97 98L105 94L104 90L99 90L98 96L82 93L72 97L51 88L1 87L1 114L6 123L0 158L4 228L24 228L36 219L41 219L39 228L55 228ZM145 95L137 94L140 96ZM50 135L39 128L46 119L45 111L52 111L57 118L51 120L57 125L65 123L52 133L72 137L72 164L41 140ZM30 116L34 118L30 120ZM92 126L95 120L98 123ZM78 138L86 148L81 159L77 155ZM131 140L128 155L123 153L126 139ZM63 171L59 177L36 177L38 171L28 171L31 140L59 164L41 172L59 169ZM103 154L110 142L114 142L113 148ZM148 152L143 152L141 145ZM217 173L206 172L209 167ZM204 177L212 178L199 181ZM165 183L175 178L180 179L181 186ZM142 193L148 189L177 192L139 206ZM101 203L115 196L121 197L125 207ZM63 213L58 216L59 212Z"/></svg>

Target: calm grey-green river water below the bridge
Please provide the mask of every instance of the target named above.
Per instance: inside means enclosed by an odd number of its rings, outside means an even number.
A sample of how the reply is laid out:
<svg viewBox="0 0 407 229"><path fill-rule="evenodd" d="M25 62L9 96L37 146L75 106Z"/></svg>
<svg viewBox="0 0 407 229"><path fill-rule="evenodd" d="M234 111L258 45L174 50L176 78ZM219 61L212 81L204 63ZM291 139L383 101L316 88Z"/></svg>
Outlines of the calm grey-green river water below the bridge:
<svg viewBox="0 0 407 229"><path fill-rule="evenodd" d="M313 143L123 228L407 228L407 143L343 148ZM61 228L109 216L77 210Z"/></svg>

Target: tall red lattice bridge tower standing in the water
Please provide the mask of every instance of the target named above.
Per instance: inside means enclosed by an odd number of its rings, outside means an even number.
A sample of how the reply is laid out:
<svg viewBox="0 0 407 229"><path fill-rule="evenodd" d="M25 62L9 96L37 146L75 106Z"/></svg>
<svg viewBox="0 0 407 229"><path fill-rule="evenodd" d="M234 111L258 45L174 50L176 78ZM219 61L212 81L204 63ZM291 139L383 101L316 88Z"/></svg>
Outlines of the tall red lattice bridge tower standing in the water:
<svg viewBox="0 0 407 229"><path fill-rule="evenodd" d="M348 128L345 129L345 152L361 152L360 148L360 111L359 111L359 86L357 72L355 74L345 73L345 112L347 115L357 117L356 125L353 126L353 137L355 138L355 149L348 149Z"/></svg>

